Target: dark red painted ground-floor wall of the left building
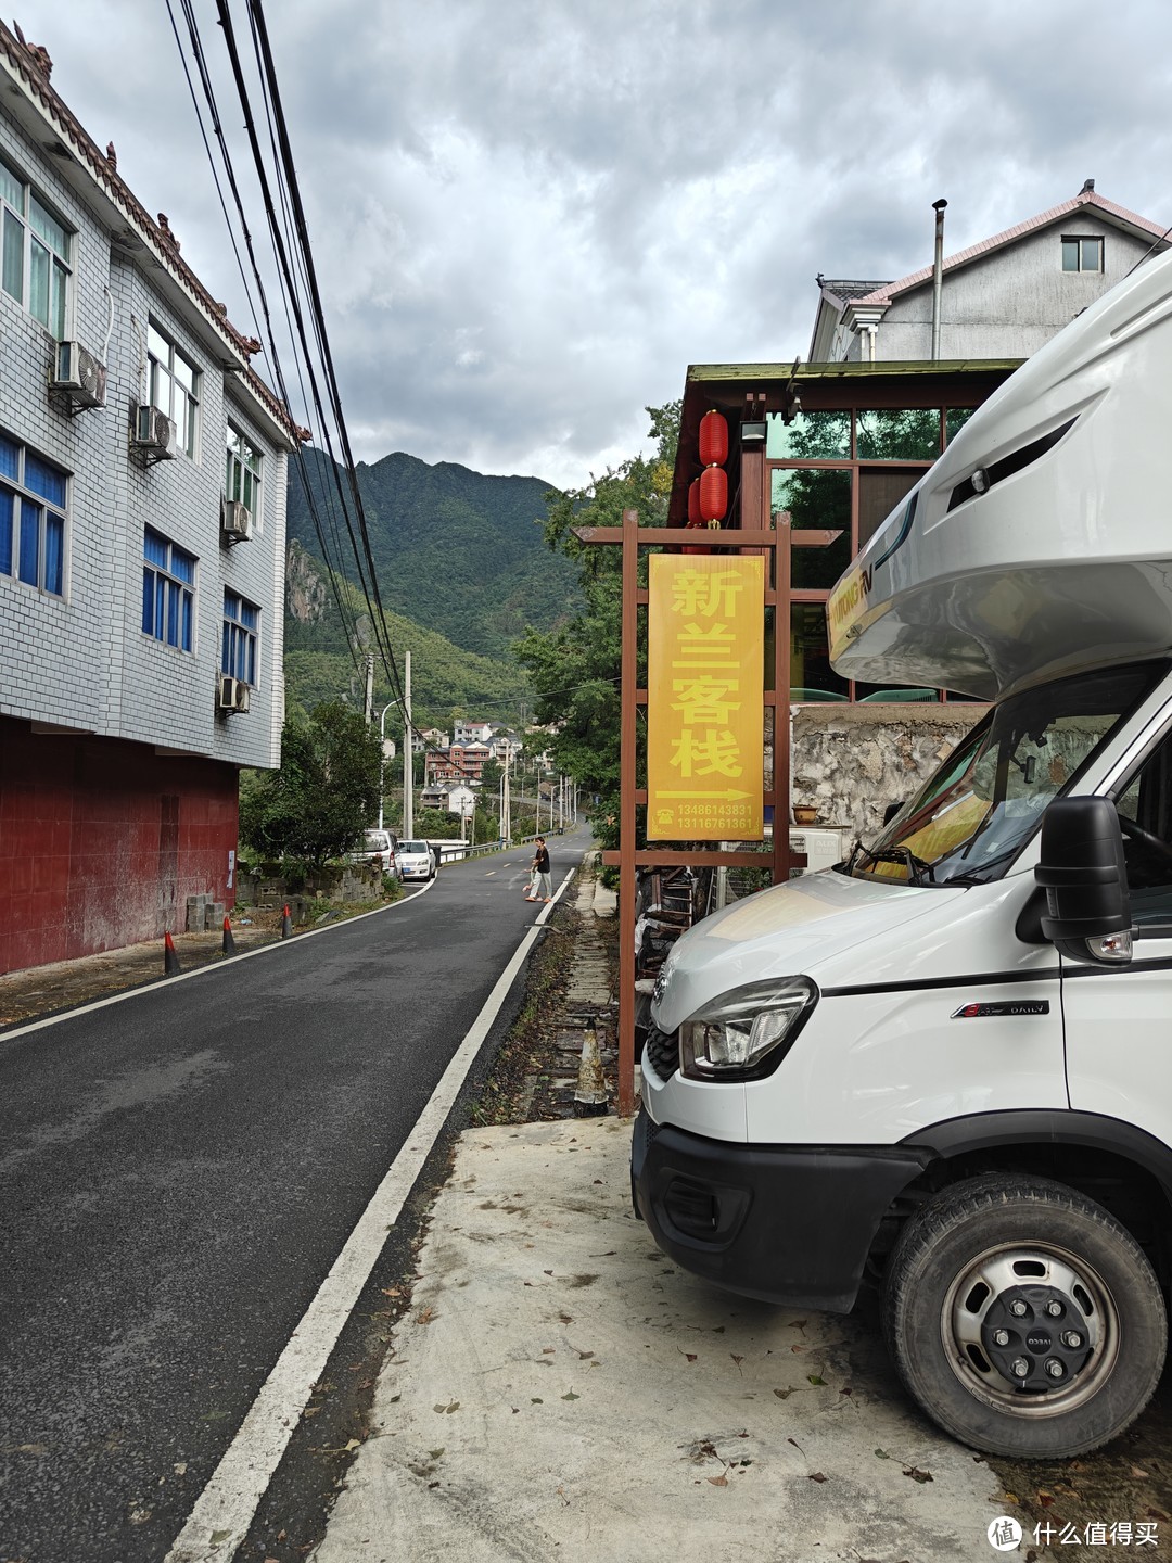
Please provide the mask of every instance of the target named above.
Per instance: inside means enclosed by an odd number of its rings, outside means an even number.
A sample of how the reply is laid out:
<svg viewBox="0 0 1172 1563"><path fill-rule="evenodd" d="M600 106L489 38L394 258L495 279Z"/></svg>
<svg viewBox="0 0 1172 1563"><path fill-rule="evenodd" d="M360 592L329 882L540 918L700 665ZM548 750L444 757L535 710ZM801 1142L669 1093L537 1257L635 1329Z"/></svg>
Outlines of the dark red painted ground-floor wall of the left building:
<svg viewBox="0 0 1172 1563"><path fill-rule="evenodd" d="M0 716L0 972L178 932L234 903L238 772Z"/></svg>

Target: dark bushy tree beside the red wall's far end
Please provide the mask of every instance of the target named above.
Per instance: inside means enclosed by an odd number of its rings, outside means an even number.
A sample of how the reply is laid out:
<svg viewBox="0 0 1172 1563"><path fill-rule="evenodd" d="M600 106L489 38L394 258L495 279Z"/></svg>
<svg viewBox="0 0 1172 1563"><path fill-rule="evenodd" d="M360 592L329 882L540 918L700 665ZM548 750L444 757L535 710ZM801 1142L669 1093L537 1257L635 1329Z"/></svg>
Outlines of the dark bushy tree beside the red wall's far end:
<svg viewBox="0 0 1172 1563"><path fill-rule="evenodd" d="M281 769L241 788L241 842L263 858L320 867L348 852L378 814L378 728L341 700L288 721Z"/></svg>

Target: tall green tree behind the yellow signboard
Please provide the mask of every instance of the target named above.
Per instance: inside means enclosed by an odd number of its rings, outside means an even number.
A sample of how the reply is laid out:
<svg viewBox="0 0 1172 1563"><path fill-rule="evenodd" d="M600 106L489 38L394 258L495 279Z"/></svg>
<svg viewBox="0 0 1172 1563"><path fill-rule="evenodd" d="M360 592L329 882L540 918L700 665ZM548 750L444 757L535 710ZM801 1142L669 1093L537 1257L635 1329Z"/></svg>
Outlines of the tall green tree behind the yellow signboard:
<svg viewBox="0 0 1172 1563"><path fill-rule="evenodd" d="M606 847L619 841L619 677L622 611L619 549L581 544L573 527L619 527L624 510L638 510L642 527L663 527L680 438L680 402L649 406L655 455L634 456L592 478L586 488L545 499L545 542L578 563L586 605L569 624L530 631L516 647L538 694L536 721L558 724L548 750L558 771L572 775Z"/></svg>

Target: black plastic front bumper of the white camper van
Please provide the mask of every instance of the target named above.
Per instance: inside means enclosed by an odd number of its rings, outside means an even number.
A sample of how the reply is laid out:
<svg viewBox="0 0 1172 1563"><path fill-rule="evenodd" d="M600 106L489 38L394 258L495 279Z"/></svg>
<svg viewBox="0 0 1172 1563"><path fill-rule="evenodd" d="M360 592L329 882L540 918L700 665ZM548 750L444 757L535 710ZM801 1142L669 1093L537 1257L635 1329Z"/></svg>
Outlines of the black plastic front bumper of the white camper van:
<svg viewBox="0 0 1172 1563"><path fill-rule="evenodd" d="M745 1146L641 1111L631 1197L681 1269L794 1308L849 1313L880 1221L930 1152L906 1146Z"/></svg>

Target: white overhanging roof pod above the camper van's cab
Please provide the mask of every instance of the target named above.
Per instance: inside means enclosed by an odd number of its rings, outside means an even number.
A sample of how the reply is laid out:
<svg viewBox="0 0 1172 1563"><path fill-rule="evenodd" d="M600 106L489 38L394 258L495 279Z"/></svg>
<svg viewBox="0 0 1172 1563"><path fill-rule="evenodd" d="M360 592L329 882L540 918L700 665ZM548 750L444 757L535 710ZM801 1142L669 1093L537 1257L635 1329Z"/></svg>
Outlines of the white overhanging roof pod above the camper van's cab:
<svg viewBox="0 0 1172 1563"><path fill-rule="evenodd" d="M836 672L994 699L1172 647L1172 252L980 406L827 603Z"/></svg>

